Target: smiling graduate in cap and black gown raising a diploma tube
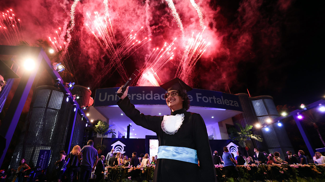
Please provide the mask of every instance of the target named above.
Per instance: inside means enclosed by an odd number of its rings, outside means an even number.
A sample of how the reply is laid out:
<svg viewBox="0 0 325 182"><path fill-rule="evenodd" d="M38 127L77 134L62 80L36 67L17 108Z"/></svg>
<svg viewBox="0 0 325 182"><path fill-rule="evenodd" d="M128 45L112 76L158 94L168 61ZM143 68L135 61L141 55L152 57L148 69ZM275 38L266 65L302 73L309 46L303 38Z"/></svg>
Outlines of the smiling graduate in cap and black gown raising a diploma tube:
<svg viewBox="0 0 325 182"><path fill-rule="evenodd" d="M129 87L117 102L134 123L157 133L159 148L153 181L217 181L205 123L200 114L187 112L187 91L192 88L179 78L161 87L167 90L170 115L141 114L126 97ZM121 91L122 87L117 92Z"/></svg>

